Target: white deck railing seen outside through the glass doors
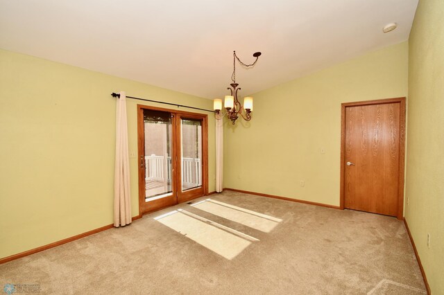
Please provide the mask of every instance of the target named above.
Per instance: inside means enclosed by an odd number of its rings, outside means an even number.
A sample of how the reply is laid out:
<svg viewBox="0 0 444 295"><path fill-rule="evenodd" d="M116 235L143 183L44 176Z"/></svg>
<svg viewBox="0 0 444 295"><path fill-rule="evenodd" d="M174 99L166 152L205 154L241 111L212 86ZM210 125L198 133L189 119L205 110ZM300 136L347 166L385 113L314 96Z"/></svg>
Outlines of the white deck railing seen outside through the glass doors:
<svg viewBox="0 0 444 295"><path fill-rule="evenodd" d="M171 181L171 157L167 157L167 163L163 156L145 156L145 181ZM165 175L167 174L167 175ZM202 185L202 164L200 159L182 159L182 186Z"/></svg>

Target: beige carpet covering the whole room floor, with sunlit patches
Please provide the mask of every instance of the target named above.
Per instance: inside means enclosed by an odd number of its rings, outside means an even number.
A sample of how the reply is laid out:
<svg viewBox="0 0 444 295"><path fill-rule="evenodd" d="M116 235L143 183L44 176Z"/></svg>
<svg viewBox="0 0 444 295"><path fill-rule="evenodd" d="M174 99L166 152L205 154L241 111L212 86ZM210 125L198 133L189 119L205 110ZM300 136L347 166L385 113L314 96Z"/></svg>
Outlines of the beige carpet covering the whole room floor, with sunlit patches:
<svg viewBox="0 0 444 295"><path fill-rule="evenodd" d="M426 294L404 224L225 191L0 265L42 294Z"/></svg>

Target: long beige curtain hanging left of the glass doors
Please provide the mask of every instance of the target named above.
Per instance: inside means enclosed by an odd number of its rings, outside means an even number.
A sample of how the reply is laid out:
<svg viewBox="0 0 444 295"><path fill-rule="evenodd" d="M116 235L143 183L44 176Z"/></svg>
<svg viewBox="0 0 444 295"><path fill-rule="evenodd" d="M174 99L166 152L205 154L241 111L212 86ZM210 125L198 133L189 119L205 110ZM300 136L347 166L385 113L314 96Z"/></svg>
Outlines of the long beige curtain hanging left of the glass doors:
<svg viewBox="0 0 444 295"><path fill-rule="evenodd" d="M116 161L114 171L114 226L131 223L130 162L128 157L128 125L126 93L120 92L116 109Z"/></svg>

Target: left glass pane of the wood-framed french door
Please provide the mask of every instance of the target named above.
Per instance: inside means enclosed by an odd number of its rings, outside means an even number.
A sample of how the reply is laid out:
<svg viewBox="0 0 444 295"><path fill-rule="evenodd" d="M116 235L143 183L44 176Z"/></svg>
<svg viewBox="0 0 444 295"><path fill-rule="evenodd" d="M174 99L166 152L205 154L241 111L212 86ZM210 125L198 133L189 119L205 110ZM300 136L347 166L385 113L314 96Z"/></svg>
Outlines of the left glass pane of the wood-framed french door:
<svg viewBox="0 0 444 295"><path fill-rule="evenodd" d="M173 128L171 113L144 109L146 202L173 195Z"/></svg>

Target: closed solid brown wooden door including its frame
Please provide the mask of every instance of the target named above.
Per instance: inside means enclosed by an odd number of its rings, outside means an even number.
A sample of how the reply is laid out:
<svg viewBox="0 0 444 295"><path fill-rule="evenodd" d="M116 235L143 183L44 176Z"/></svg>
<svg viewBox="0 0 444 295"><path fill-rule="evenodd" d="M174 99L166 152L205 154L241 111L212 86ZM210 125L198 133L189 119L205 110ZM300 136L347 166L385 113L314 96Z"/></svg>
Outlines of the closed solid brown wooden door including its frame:
<svg viewBox="0 0 444 295"><path fill-rule="evenodd" d="M402 218L404 98L343 104L341 207Z"/></svg>

